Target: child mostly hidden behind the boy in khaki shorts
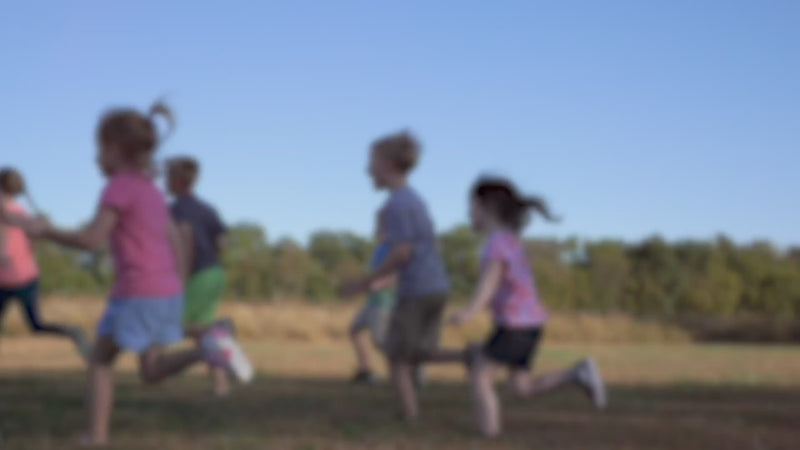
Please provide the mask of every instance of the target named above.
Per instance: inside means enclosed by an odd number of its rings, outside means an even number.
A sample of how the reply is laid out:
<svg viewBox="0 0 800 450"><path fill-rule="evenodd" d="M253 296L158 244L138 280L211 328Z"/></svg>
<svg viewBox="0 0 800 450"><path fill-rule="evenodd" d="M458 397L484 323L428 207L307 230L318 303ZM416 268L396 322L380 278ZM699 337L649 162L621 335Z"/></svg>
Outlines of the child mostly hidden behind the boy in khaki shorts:
<svg viewBox="0 0 800 450"><path fill-rule="evenodd" d="M386 241L383 217L380 213L378 214L375 230L376 242L370 264L371 270L379 268L391 250ZM378 380L369 360L369 338L372 338L372 344L375 347L381 350L384 349L389 318L394 307L395 281L396 277L389 275L373 283L369 287L367 303L358 312L350 326L350 339L353 342L353 349L358 362L358 371L353 377L354 383L374 384ZM367 337L367 331L369 332L369 337Z"/></svg>

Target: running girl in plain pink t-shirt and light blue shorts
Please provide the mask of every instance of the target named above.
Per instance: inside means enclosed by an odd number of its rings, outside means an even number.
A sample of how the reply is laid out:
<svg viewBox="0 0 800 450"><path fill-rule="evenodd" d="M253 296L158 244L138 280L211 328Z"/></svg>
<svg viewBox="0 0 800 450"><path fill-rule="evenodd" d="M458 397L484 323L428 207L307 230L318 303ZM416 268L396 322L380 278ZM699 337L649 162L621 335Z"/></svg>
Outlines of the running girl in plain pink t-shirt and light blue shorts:
<svg viewBox="0 0 800 450"><path fill-rule="evenodd" d="M43 232L62 245L85 250L97 250L111 241L115 281L89 369L87 445L108 442L112 369L121 351L139 355L145 383L157 383L200 361L225 367L243 381L252 377L252 367L222 327L207 332L197 348L164 350L184 337L182 276L187 264L164 196L151 177L159 144L157 116L172 124L170 110L160 103L146 115L116 109L101 118L97 162L108 182L95 217L77 231L49 227Z"/></svg>

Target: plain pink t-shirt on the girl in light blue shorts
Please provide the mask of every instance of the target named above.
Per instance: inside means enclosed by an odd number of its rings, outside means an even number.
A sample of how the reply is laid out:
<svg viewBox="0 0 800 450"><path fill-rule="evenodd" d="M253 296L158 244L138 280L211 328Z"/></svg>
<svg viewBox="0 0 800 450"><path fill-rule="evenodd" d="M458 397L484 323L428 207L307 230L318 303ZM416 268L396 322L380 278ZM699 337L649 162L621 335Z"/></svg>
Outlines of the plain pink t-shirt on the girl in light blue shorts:
<svg viewBox="0 0 800 450"><path fill-rule="evenodd" d="M169 211L151 178L133 172L114 175L100 199L118 214L111 232L114 299L167 299L183 291L169 240Z"/></svg>

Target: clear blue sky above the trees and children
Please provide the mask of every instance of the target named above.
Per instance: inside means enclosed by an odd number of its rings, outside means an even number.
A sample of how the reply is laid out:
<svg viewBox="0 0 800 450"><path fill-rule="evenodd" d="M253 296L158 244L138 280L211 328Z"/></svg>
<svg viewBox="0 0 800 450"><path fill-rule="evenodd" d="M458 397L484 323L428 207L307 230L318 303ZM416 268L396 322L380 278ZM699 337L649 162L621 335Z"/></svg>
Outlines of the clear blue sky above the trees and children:
<svg viewBox="0 0 800 450"><path fill-rule="evenodd" d="M94 127L167 95L162 156L271 238L371 228L369 143L425 144L439 228L484 172L564 217L534 235L800 244L800 2L4 2L0 163L88 218Z"/></svg>

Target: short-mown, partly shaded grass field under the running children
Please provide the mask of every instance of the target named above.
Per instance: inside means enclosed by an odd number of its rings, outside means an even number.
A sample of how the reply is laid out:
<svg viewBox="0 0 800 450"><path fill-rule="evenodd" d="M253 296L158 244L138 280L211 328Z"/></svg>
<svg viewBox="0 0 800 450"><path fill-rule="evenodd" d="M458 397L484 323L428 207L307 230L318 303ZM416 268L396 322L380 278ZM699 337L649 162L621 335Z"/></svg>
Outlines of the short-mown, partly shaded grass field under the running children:
<svg viewBox="0 0 800 450"><path fill-rule="evenodd" d="M552 344L537 370L594 354L611 387L599 413L579 392L535 401L503 396L505 436L478 437L459 368L430 371L423 419L394 420L386 385L346 383L337 340L246 342L259 377L228 399L201 370L142 387L120 361L113 448L125 449L796 449L800 348ZM0 341L0 448L72 448L83 425L84 373L69 344Z"/></svg>

